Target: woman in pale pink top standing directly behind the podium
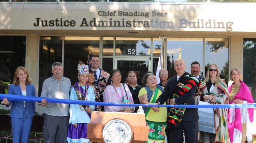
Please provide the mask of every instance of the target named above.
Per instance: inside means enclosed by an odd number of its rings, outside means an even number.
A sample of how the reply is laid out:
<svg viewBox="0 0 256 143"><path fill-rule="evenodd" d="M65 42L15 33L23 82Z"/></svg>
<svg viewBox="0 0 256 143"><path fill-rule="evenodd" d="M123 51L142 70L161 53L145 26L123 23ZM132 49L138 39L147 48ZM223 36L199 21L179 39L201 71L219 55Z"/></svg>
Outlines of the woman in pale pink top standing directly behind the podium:
<svg viewBox="0 0 256 143"><path fill-rule="evenodd" d="M132 104L133 99L131 92L126 84L121 83L121 72L118 69L110 71L107 87L103 92L103 102L107 103L123 103L124 100L129 100ZM106 112L122 112L122 107L119 106L104 106ZM132 112L134 107L132 107Z"/></svg>

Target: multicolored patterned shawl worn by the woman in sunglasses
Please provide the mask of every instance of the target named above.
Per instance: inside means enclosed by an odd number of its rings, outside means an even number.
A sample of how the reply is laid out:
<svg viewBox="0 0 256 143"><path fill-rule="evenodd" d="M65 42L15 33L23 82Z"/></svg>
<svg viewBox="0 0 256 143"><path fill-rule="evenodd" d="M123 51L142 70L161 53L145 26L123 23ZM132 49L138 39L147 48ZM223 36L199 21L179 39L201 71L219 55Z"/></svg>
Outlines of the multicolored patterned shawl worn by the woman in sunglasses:
<svg viewBox="0 0 256 143"><path fill-rule="evenodd" d="M202 95L213 94L213 96L216 97L215 102L218 102L219 104L228 104L229 102L228 88L225 80L221 80L221 82L219 82L217 87L213 88L211 93L208 93L206 83L207 81L204 80L201 84L200 91ZM218 104L218 103L214 103L214 104ZM229 137L228 128L227 128L227 109L213 108L213 113L214 113L215 131L216 131L215 142L230 143L230 137Z"/></svg>

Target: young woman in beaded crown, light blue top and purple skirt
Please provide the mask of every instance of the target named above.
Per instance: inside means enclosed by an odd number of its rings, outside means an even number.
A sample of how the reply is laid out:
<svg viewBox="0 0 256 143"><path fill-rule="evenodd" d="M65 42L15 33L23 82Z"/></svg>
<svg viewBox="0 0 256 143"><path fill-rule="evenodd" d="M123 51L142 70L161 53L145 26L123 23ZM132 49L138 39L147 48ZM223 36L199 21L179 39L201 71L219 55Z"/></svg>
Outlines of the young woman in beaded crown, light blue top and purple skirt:
<svg viewBox="0 0 256 143"><path fill-rule="evenodd" d="M79 61L78 64L78 80L69 95L71 100L94 101L95 95L92 87L86 82L89 76L89 68L87 65ZM94 105L78 105L70 104L70 118L68 124L67 143L88 143L87 123L90 123L91 112Z"/></svg>

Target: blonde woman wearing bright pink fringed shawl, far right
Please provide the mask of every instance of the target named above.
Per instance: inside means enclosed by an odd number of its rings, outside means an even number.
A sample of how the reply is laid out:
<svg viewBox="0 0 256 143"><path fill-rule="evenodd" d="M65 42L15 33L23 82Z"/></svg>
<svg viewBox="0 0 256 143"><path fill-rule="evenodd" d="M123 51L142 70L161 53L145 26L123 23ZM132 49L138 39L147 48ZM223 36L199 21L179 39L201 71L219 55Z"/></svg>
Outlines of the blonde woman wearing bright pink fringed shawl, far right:
<svg viewBox="0 0 256 143"><path fill-rule="evenodd" d="M230 92L229 104L253 103L249 88L241 80L241 71L233 68L230 71L230 79L234 82L228 87ZM230 108L228 109L228 132L231 143L244 143L252 141L253 108Z"/></svg>

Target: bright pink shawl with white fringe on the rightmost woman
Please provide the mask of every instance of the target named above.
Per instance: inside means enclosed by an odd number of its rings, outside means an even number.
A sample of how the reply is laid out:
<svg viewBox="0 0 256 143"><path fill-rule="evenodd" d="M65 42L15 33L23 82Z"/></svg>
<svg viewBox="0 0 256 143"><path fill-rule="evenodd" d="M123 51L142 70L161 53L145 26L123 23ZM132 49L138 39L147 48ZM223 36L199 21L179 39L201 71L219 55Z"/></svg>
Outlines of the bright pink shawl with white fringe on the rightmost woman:
<svg viewBox="0 0 256 143"><path fill-rule="evenodd" d="M243 81L240 80L241 87L239 92L235 95L234 99L229 102L233 104L236 99L243 100L243 103L253 103L252 95L249 88ZM232 83L233 85L234 83ZM232 85L228 87L230 92ZM231 108L228 109L228 132L230 135L231 143L241 143L242 140L242 123L246 123L246 137L250 143L252 140L252 130L250 129L253 122L253 108Z"/></svg>

